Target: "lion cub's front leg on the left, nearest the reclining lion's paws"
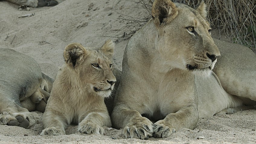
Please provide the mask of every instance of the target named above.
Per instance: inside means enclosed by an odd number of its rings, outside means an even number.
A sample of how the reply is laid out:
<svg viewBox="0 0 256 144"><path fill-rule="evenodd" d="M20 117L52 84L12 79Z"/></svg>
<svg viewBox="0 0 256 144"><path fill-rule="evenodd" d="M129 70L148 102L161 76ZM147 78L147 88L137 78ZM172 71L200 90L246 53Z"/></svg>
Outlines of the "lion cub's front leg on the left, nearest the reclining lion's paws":
<svg viewBox="0 0 256 144"><path fill-rule="evenodd" d="M67 118L61 113L52 108L46 109L43 114L44 130L42 135L65 135L65 129L69 125Z"/></svg>

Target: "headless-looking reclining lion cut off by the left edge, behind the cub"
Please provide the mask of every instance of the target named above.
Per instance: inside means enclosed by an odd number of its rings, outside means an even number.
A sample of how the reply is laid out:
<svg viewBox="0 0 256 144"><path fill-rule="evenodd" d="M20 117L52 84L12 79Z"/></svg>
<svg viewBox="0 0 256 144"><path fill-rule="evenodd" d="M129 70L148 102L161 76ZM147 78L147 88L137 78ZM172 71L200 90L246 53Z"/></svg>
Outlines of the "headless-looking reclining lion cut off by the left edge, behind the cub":
<svg viewBox="0 0 256 144"><path fill-rule="evenodd" d="M28 128L44 112L53 79L37 62L11 49L0 48L0 124Z"/></svg>

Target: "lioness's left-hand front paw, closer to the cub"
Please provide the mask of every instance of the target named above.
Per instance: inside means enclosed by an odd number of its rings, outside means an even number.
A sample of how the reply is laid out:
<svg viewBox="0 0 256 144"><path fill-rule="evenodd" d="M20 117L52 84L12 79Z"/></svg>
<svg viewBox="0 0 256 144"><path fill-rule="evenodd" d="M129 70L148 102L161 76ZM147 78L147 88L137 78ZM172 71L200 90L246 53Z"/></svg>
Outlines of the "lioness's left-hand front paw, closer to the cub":
<svg viewBox="0 0 256 144"><path fill-rule="evenodd" d="M135 126L126 126L123 135L126 138L149 139L152 136L152 126L145 123L138 123Z"/></svg>

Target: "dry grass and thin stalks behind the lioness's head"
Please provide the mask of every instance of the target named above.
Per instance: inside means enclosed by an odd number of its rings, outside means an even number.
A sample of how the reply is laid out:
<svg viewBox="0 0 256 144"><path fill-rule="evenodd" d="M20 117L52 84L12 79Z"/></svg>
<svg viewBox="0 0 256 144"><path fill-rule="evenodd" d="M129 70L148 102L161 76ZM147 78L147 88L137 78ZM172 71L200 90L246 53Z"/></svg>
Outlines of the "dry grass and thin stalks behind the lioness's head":
<svg viewBox="0 0 256 144"><path fill-rule="evenodd" d="M154 0L137 0L151 14ZM173 0L192 8L201 0ZM205 0L208 19L219 35L225 34L229 41L255 49L256 47L256 1L255 0Z"/></svg>

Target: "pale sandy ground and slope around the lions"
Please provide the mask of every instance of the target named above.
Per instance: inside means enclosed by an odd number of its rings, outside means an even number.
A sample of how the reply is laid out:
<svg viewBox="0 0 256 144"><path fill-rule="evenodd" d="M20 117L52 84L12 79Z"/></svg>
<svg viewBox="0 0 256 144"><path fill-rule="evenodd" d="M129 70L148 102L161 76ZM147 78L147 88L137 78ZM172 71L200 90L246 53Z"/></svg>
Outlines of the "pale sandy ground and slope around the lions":
<svg viewBox="0 0 256 144"><path fill-rule="evenodd" d="M124 19L148 15L134 1L66 0L55 7L30 11L19 11L18 5L1 1L0 47L33 57L42 72L54 78L64 63L66 45L78 42L99 47L111 39L116 42L114 57L121 69L126 39L137 26ZM26 14L33 16L21 17ZM42 113L38 114L42 117ZM168 138L148 140L125 139L122 130L108 127L104 127L104 136L79 133L77 126L69 126L66 135L39 136L43 130L41 121L30 129L1 125L0 143L256 143L255 116L256 110L245 110L201 118L194 130L182 129Z"/></svg>

